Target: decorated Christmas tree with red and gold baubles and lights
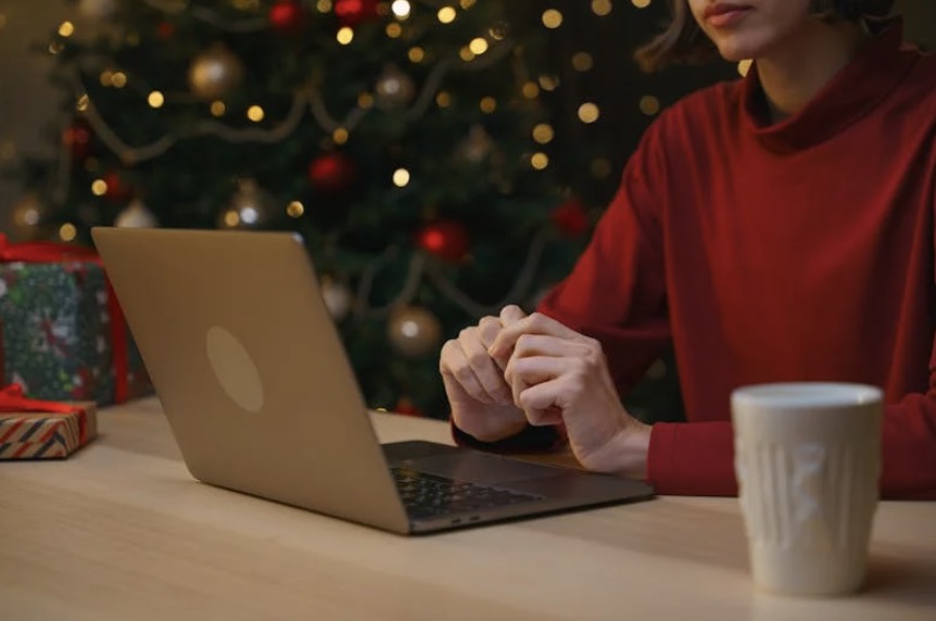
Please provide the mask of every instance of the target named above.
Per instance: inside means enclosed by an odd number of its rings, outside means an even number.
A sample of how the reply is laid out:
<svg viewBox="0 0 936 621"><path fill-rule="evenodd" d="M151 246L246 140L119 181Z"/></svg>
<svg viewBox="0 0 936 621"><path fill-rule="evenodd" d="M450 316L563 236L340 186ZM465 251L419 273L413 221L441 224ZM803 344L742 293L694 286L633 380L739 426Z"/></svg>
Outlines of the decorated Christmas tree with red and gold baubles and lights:
<svg viewBox="0 0 936 621"><path fill-rule="evenodd" d="M558 12L76 8L93 36L65 22L43 43L68 117L62 155L24 166L50 207L14 218L79 243L94 225L301 233L371 407L446 416L442 341L506 303L531 308L581 250L590 217L551 165L544 25Z"/></svg>

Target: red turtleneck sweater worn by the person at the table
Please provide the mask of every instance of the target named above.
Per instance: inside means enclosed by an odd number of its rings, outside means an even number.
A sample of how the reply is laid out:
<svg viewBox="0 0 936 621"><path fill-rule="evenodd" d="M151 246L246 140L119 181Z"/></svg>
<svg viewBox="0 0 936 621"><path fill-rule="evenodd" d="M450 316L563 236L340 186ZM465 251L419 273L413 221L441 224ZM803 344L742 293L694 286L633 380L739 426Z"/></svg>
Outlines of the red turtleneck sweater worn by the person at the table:
<svg viewBox="0 0 936 621"><path fill-rule="evenodd" d="M736 493L736 386L834 380L885 391L884 496L936 498L936 56L901 41L777 124L756 67L666 111L542 302L621 391L672 342L687 422L653 428L658 493Z"/></svg>

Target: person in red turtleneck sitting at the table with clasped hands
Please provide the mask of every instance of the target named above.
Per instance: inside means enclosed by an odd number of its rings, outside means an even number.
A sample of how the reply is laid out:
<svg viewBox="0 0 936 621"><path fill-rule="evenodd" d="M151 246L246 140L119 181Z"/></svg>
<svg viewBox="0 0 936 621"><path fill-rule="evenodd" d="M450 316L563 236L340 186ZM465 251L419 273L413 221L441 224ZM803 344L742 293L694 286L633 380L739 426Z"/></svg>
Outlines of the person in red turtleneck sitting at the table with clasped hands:
<svg viewBox="0 0 936 621"><path fill-rule="evenodd" d="M885 394L883 497L936 498L936 58L890 0L675 0L637 56L752 61L644 132L568 277L440 370L461 444L568 449L660 494L734 495L730 394ZM671 343L685 422L621 395Z"/></svg>

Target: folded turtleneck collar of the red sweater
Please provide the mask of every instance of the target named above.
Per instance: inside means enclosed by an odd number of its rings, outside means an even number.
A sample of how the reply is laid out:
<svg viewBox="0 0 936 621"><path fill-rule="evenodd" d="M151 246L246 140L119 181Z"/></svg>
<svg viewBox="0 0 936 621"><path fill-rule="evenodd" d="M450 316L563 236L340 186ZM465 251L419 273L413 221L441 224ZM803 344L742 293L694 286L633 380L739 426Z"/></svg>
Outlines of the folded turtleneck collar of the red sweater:
<svg viewBox="0 0 936 621"><path fill-rule="evenodd" d="M915 54L907 53L902 42L902 22L895 17L802 110L772 125L757 66L751 65L743 88L746 126L766 147L781 152L831 138L863 117L903 78Z"/></svg>

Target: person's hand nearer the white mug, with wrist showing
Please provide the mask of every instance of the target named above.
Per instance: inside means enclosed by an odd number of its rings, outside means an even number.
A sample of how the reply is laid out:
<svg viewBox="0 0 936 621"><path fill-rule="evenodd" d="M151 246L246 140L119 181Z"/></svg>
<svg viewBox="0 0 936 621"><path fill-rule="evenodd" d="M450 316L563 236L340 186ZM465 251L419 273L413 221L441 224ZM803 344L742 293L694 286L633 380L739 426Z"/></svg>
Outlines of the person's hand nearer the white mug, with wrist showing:
<svg viewBox="0 0 936 621"><path fill-rule="evenodd" d="M650 427L621 405L598 341L534 313L505 325L489 352L494 359L509 356L505 379L524 420L565 423L584 468L646 476Z"/></svg>

